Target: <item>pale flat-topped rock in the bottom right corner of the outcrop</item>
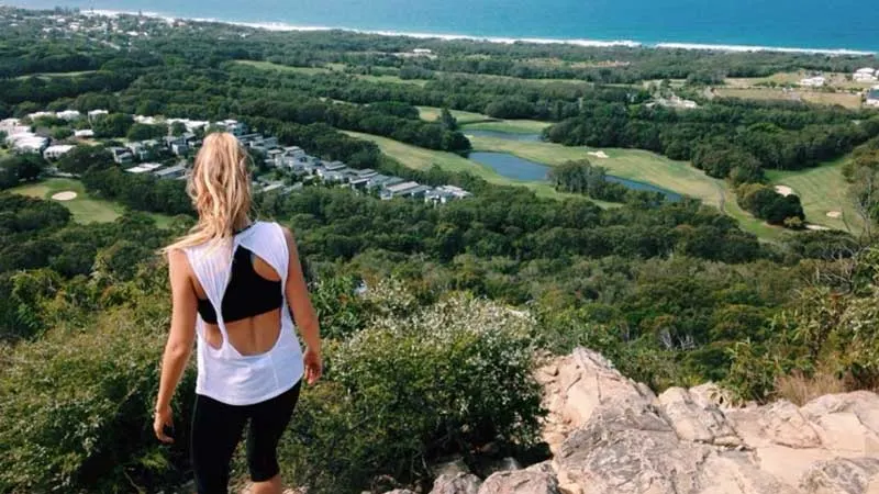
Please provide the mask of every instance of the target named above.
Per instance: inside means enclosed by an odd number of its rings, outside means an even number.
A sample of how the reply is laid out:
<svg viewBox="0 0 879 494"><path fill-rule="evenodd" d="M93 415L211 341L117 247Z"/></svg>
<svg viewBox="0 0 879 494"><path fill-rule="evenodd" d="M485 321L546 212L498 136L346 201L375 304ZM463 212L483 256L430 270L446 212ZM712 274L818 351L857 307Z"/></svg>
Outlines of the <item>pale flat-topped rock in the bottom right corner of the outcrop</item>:
<svg viewBox="0 0 879 494"><path fill-rule="evenodd" d="M815 463L800 487L809 494L879 493L879 459L836 459Z"/></svg>

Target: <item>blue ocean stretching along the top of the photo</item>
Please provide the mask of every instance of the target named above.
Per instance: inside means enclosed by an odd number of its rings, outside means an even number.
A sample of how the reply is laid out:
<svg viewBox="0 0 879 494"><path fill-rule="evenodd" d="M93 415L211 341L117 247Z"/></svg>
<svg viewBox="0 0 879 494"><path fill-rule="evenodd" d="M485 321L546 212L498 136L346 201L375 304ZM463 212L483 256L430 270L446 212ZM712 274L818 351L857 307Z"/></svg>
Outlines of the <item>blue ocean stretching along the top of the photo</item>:
<svg viewBox="0 0 879 494"><path fill-rule="evenodd" d="M879 52L865 0L19 0L49 9L387 33ZM692 47L692 46L691 46Z"/></svg>

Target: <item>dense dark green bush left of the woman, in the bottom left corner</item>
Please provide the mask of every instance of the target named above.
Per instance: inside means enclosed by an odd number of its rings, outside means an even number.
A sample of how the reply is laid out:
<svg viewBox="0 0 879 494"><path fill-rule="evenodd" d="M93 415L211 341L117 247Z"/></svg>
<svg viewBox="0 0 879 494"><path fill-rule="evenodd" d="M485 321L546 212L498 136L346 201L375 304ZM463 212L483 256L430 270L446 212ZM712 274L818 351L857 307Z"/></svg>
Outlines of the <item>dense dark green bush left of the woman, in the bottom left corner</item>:
<svg viewBox="0 0 879 494"><path fill-rule="evenodd" d="M168 307L140 304L140 314L114 310L85 330L56 327L4 358L0 492L154 492L179 482L169 467L185 457L185 438L169 450L152 433ZM178 430L186 430L183 408Z"/></svg>

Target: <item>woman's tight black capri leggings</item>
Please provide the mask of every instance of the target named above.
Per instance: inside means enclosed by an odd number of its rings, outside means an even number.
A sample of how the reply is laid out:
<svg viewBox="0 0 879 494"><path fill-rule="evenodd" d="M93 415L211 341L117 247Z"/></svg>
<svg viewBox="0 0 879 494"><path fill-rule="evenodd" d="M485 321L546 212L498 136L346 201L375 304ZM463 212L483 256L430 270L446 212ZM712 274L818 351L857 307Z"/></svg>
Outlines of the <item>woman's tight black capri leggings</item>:
<svg viewBox="0 0 879 494"><path fill-rule="evenodd" d="M247 420L251 480L264 482L278 474L278 441L293 415L300 385L301 382L279 396L244 406L196 395L191 451L199 494L229 493L230 462Z"/></svg>

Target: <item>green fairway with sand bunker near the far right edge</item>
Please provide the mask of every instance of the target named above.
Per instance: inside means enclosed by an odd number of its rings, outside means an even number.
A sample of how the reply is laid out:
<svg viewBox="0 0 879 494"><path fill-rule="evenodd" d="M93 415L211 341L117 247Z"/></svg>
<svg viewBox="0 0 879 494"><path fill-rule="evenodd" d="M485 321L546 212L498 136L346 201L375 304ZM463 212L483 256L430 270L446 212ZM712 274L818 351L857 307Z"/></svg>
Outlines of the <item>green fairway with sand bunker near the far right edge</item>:
<svg viewBox="0 0 879 494"><path fill-rule="evenodd" d="M798 171L767 171L774 184L788 186L800 197L809 223L831 228L850 231L858 234L864 223L855 212L854 204L846 198L848 183L843 177L843 166L848 158ZM828 217L827 213L843 213L839 218Z"/></svg>

